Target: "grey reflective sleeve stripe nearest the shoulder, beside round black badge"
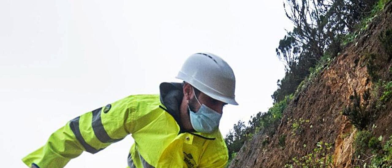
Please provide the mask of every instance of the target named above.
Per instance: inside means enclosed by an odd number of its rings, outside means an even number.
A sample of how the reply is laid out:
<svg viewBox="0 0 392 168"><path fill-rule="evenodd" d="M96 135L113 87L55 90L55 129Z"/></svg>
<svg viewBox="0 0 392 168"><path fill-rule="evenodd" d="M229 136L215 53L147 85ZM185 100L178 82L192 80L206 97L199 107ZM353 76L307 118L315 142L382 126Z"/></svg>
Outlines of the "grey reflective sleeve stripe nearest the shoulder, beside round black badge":
<svg viewBox="0 0 392 168"><path fill-rule="evenodd" d="M101 111L102 111L102 108L98 108L98 109L92 111L93 120L91 122L91 125L93 126L95 136L102 143L121 141L123 138L112 139L111 137L109 137L109 135L105 131L105 128L103 128L103 125L102 125Z"/></svg>

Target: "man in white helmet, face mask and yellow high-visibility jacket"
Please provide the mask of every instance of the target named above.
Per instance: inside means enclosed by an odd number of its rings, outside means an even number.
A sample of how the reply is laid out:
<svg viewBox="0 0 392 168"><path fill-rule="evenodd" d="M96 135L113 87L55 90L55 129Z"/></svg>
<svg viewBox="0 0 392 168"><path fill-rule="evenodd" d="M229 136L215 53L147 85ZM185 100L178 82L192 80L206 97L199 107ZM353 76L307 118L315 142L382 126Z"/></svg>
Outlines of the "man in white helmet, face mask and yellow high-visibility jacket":
<svg viewBox="0 0 392 168"><path fill-rule="evenodd" d="M176 78L183 83L164 82L159 95L131 95L72 119L22 161L64 167L131 134L130 168L224 167L228 152L218 126L223 106L238 105L232 69L216 55L196 53Z"/></svg>

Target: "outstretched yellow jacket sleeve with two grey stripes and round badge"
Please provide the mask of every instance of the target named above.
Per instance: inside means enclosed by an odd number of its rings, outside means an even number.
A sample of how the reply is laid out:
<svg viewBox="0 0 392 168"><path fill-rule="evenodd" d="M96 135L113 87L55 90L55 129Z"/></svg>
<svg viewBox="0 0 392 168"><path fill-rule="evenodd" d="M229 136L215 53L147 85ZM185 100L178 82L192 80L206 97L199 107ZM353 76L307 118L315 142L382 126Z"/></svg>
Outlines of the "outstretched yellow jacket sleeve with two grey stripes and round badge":
<svg viewBox="0 0 392 168"><path fill-rule="evenodd" d="M80 115L55 131L44 146L22 161L29 167L62 168L83 151L99 152L134 131L135 106L137 99L129 96Z"/></svg>

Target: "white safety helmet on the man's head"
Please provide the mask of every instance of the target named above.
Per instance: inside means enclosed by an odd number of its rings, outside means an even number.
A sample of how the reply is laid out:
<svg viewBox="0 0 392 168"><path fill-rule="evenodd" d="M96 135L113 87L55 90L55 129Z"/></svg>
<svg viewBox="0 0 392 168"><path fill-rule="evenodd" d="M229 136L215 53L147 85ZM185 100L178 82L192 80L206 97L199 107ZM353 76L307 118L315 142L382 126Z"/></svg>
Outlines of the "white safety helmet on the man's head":
<svg viewBox="0 0 392 168"><path fill-rule="evenodd" d="M188 82L213 99L238 105L234 100L236 78L222 58L211 53L196 53L183 64L177 79Z"/></svg>

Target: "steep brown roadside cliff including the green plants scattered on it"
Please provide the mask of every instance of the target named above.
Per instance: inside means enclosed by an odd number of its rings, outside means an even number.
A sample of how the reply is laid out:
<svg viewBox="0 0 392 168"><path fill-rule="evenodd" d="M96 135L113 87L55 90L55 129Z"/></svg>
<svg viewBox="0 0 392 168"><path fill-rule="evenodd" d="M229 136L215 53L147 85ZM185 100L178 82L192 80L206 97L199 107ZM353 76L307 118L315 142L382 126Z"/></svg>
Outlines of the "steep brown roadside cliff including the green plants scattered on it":
<svg viewBox="0 0 392 168"><path fill-rule="evenodd" d="M296 167L299 158L316 154L325 157L324 163L332 156L330 167L369 163L374 155L357 156L354 141L363 130L380 144L392 135L392 103L385 97L390 89L386 83L392 80L392 48L386 44L391 29L388 3L356 40L294 95L274 133L254 135L229 167Z"/></svg>

